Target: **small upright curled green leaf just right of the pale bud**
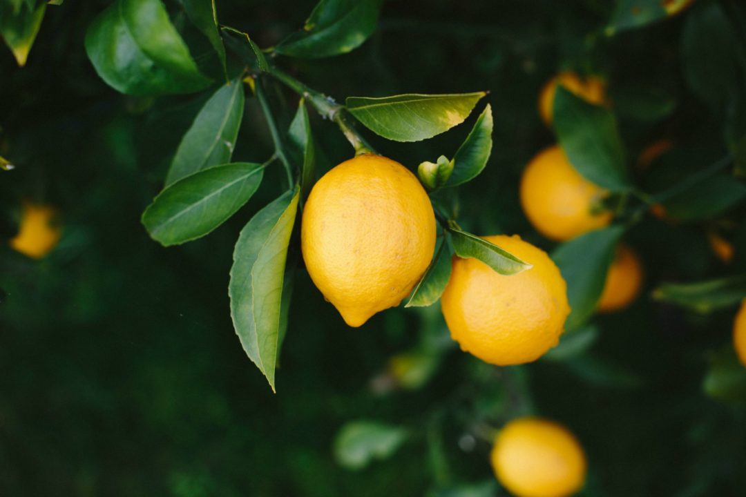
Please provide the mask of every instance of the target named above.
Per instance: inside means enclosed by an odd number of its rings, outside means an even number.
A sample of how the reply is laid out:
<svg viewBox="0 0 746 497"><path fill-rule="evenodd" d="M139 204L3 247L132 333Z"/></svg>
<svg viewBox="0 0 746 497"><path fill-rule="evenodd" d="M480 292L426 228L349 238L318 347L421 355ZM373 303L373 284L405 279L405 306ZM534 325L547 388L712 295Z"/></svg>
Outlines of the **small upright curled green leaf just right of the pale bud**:
<svg viewBox="0 0 746 497"><path fill-rule="evenodd" d="M457 186L473 180L487 165L492 152L492 107L489 104L471 128L454 156L454 172L446 186Z"/></svg>

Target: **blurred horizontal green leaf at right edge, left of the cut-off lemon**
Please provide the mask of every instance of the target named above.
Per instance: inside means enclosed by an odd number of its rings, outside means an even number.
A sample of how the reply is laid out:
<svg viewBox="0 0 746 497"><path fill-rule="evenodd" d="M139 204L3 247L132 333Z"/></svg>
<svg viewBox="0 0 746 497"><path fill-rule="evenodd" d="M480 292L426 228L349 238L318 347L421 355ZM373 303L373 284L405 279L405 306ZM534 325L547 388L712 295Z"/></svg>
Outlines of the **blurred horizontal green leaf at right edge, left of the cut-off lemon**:
<svg viewBox="0 0 746 497"><path fill-rule="evenodd" d="M746 274L695 283L664 283L653 299L707 313L735 306L746 297Z"/></svg>

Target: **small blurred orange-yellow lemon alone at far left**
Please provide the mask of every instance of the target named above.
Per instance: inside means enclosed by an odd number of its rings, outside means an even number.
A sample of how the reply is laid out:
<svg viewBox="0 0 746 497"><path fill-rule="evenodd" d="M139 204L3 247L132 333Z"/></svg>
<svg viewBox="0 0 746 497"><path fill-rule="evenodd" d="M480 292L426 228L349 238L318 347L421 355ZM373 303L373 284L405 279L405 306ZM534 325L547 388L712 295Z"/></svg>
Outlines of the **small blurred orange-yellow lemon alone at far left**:
<svg viewBox="0 0 746 497"><path fill-rule="evenodd" d="M19 232L10 240L10 247L32 259L46 256L62 235L62 229L54 224L56 217L57 211L51 206L25 203Z"/></svg>

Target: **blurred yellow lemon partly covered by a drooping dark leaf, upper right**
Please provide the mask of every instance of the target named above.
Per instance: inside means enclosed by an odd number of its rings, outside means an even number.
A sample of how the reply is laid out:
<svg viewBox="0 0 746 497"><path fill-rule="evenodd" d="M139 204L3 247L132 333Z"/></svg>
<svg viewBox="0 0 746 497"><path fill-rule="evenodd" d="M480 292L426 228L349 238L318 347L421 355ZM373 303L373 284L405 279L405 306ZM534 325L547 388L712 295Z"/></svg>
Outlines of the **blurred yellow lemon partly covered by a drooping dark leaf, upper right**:
<svg viewBox="0 0 746 497"><path fill-rule="evenodd" d="M575 171L561 148L539 152L523 171L521 206L531 224L557 241L605 227L612 214L601 209L608 191Z"/></svg>

